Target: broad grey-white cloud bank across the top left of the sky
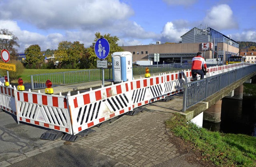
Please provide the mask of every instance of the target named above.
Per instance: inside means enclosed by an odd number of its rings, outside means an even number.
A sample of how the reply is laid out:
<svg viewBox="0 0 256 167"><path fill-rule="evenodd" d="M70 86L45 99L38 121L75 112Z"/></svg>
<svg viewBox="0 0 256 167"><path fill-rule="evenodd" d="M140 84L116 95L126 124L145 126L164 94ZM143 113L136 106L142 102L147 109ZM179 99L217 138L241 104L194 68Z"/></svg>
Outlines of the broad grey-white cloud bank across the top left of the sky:
<svg viewBox="0 0 256 167"><path fill-rule="evenodd" d="M21 20L41 29L104 26L134 14L119 0L11 0L2 6L0 18Z"/></svg>

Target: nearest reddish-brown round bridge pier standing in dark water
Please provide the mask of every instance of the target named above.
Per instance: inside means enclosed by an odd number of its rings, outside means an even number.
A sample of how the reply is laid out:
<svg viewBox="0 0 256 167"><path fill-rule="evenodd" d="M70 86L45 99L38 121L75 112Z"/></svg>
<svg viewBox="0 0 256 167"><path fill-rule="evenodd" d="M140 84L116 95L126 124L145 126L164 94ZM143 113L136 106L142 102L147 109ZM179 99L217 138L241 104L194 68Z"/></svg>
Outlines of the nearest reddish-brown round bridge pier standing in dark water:
<svg viewBox="0 0 256 167"><path fill-rule="evenodd" d="M219 123L221 121L221 104L222 100L217 101L204 111L203 119L209 122Z"/></svg>

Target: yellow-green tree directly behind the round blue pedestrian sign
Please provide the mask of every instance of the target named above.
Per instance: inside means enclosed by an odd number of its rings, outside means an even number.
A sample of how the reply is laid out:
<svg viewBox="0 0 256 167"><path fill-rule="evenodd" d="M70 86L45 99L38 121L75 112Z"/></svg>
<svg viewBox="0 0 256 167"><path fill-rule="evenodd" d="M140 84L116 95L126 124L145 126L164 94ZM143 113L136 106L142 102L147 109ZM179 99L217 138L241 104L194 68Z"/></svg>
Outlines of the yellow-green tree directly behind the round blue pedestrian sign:
<svg viewBox="0 0 256 167"><path fill-rule="evenodd" d="M101 37L102 37L102 35L100 34L100 32L96 32L95 39L94 39L94 42L92 43L92 46L90 46L90 48L87 49L88 54L90 54L90 57L89 57L89 61L91 62L90 66L94 67L94 68L97 65L97 59L98 59L94 52L94 45L96 44L97 40ZM108 62L112 62L111 54L114 52L122 52L124 50L120 46L118 46L117 42L118 42L119 38L117 36L110 36L110 34L105 34L103 36L103 38L108 40L108 43L110 46L110 52L109 52L106 60L108 60Z"/></svg>

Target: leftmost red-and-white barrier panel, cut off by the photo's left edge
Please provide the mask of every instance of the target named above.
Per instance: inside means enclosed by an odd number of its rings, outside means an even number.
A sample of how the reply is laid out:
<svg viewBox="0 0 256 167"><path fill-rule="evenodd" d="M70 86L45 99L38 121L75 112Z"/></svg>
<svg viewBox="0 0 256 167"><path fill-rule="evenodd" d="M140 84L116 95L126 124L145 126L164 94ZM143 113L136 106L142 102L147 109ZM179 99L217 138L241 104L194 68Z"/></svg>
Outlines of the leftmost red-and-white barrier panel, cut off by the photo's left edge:
<svg viewBox="0 0 256 167"><path fill-rule="evenodd" d="M14 115L16 115L15 97L14 97L14 87L4 86L4 83L0 85L0 108L4 109Z"/></svg>

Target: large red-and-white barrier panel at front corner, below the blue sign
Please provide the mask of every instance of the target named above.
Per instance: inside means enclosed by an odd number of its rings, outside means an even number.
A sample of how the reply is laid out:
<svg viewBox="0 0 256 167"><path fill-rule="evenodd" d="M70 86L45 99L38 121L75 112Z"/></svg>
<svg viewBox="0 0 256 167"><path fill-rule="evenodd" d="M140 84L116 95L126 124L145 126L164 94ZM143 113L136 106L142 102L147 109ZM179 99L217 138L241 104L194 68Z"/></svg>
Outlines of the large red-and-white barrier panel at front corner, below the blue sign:
<svg viewBox="0 0 256 167"><path fill-rule="evenodd" d="M70 96L68 103L73 134L132 111L129 83L122 82Z"/></svg>

